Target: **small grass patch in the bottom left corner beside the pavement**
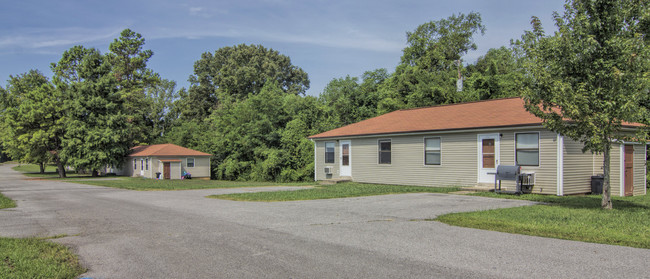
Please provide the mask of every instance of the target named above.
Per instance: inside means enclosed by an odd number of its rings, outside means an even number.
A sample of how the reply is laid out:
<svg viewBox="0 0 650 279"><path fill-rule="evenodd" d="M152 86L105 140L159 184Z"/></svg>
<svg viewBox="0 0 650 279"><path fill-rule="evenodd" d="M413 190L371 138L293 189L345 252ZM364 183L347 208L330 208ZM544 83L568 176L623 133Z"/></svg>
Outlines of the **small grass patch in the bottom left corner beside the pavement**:
<svg viewBox="0 0 650 279"><path fill-rule="evenodd" d="M76 278L85 271L63 245L38 238L0 237L0 278Z"/></svg>

